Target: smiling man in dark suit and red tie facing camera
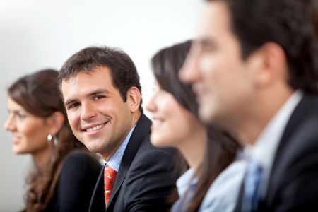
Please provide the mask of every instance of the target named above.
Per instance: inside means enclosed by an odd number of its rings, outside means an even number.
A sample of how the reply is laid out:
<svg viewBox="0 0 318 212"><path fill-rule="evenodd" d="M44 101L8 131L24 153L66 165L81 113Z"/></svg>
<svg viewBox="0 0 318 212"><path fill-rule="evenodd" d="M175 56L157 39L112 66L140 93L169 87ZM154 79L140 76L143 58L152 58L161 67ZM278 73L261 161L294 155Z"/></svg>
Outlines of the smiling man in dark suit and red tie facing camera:
<svg viewBox="0 0 318 212"><path fill-rule="evenodd" d="M62 66L59 87L73 133L105 163L90 211L167 211L174 151L151 146L130 57L110 47L82 49Z"/></svg>

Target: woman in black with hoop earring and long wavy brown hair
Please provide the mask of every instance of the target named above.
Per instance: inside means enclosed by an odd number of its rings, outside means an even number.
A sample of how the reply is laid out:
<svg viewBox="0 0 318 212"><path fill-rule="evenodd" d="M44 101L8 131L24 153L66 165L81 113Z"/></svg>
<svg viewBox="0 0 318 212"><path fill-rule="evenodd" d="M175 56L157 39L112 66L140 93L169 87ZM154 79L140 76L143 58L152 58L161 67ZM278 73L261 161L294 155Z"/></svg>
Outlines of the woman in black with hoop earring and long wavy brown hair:
<svg viewBox="0 0 318 212"><path fill-rule="evenodd" d="M100 163L71 131L57 88L58 71L23 76L8 88L13 153L30 154L23 211L88 211Z"/></svg>

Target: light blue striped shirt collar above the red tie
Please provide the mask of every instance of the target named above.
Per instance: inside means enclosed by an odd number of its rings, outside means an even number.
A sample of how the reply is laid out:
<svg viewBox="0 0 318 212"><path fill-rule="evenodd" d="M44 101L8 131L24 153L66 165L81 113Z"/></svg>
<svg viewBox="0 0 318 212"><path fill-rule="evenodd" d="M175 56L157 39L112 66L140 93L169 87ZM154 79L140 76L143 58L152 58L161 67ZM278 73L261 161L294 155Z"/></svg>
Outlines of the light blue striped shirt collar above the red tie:
<svg viewBox="0 0 318 212"><path fill-rule="evenodd" d="M129 143L129 139L130 139L131 134L133 133L133 131L135 129L135 126L129 131L129 134L126 136L126 139L124 140L124 142L122 142L122 145L119 146L119 148L114 153L114 155L112 155L112 157L110 157L110 160L108 160L108 161L104 160L105 166L110 166L116 172L119 171L119 166L120 166L120 163L122 162L122 157L124 156L126 146Z"/></svg>

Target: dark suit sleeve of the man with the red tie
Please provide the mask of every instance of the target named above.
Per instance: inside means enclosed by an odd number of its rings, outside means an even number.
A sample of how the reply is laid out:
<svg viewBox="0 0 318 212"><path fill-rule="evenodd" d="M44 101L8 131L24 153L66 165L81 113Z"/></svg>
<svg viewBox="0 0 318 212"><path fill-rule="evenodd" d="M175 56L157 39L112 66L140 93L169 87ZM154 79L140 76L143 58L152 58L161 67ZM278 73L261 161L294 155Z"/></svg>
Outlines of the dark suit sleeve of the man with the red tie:
<svg viewBox="0 0 318 212"><path fill-rule="evenodd" d="M167 211L175 189L175 149L155 148L142 143L127 172L124 191L125 211Z"/></svg>

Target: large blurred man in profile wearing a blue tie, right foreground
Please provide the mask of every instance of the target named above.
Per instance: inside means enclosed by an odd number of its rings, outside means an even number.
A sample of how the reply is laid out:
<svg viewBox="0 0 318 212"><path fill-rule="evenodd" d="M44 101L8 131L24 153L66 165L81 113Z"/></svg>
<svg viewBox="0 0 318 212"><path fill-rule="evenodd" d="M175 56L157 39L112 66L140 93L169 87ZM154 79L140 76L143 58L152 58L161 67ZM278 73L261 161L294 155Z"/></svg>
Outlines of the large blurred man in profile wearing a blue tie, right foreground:
<svg viewBox="0 0 318 212"><path fill-rule="evenodd" d="M314 4L206 1L180 78L193 83L201 119L246 146L247 170L235 172L245 172L237 211L318 210Z"/></svg>

